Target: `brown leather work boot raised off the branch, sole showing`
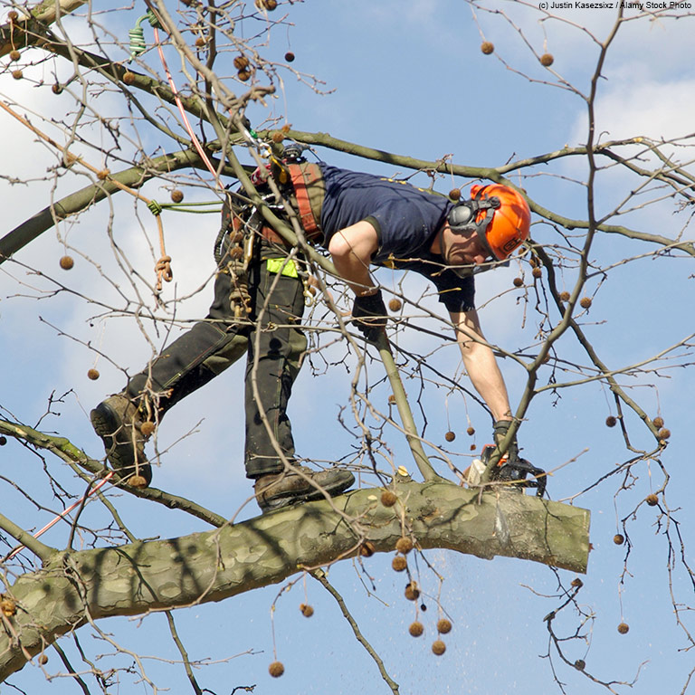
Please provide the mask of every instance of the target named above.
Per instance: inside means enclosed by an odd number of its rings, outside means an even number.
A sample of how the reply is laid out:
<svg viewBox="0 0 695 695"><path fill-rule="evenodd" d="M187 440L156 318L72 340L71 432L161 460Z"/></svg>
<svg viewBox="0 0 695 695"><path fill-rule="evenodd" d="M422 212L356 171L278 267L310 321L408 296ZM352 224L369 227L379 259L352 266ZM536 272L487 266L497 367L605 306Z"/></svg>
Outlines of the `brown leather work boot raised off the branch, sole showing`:
<svg viewBox="0 0 695 695"><path fill-rule="evenodd" d="M129 477L133 487L147 487L152 481L152 468L145 458L148 434L141 432L143 422L138 406L126 395L111 395L91 411L90 420L114 470ZM138 476L145 480L144 484Z"/></svg>

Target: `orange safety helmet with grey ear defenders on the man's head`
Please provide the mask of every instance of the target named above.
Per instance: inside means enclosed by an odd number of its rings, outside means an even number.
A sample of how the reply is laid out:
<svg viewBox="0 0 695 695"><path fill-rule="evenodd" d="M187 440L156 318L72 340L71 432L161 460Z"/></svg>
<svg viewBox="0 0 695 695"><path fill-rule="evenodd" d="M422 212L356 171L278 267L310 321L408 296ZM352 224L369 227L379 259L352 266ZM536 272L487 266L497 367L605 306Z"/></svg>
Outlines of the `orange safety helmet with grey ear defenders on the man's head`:
<svg viewBox="0 0 695 695"><path fill-rule="evenodd" d="M475 230L497 261L506 261L528 239L531 211L522 195L509 186L471 186L471 200L452 207L448 215L453 232Z"/></svg>

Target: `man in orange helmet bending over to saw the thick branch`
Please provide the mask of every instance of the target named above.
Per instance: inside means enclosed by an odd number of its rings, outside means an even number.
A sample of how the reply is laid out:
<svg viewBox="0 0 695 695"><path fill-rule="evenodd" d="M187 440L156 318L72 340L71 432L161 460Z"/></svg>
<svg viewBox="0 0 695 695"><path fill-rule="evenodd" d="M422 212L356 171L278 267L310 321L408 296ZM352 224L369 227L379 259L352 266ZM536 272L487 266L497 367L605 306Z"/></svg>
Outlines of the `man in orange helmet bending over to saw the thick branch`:
<svg viewBox="0 0 695 695"><path fill-rule="evenodd" d="M472 385L494 419L500 443L512 422L509 396L474 307L474 275L504 262L528 239L528 204L517 191L472 186L457 203L404 182L288 153L272 175L289 197L310 243L328 249L355 294L353 320L367 340L386 326L386 308L370 265L412 270L433 282L448 309ZM262 191L262 176L255 183ZM271 199L268 193L267 199ZM307 340L300 328L306 273L300 254L244 205L225 205L215 243L218 272L207 317L165 348L151 364L91 412L111 465L145 486L152 472L145 443L167 410L247 356L246 476L263 511L338 495L354 482L349 471L313 471L295 458L287 405ZM291 257L290 257L291 256ZM499 475L519 478L518 447L509 444ZM521 477L525 477L522 474Z"/></svg>

